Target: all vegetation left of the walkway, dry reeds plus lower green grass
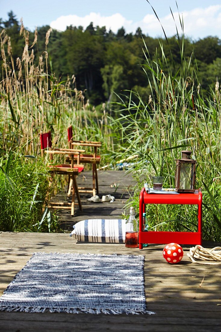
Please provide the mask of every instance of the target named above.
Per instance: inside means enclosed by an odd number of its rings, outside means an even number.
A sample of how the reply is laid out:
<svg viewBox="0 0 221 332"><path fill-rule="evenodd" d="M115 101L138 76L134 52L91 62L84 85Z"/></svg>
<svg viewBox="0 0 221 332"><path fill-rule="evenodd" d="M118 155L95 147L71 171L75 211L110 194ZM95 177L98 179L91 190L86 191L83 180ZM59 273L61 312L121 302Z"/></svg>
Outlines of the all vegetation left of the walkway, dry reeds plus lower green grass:
<svg viewBox="0 0 221 332"><path fill-rule="evenodd" d="M75 76L58 80L52 70L47 45L52 30L45 36L45 51L35 65L33 45L21 22L24 51L16 63L10 36L0 33L0 230L56 231L57 217L47 210L52 192L44 161L40 157L40 131L52 131L53 145L68 147L67 127L73 125L76 139L102 141L103 151L113 149L110 118L102 105L98 115L84 92L77 90ZM103 163L107 159L104 153Z"/></svg>

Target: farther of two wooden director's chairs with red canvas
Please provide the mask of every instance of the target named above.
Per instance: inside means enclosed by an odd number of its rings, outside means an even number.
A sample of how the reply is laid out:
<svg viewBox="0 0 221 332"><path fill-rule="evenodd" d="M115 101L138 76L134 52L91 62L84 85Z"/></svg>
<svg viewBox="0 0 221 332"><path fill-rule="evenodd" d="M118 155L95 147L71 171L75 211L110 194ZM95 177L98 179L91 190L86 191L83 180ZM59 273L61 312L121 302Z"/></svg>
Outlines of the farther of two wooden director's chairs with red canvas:
<svg viewBox="0 0 221 332"><path fill-rule="evenodd" d="M74 146L82 146L82 147L91 146L91 147L94 147L94 153L93 154L80 153L80 162L81 162L81 164L91 164L92 165L92 189L91 188L85 188L85 187L79 187L79 192L92 193L93 196L96 195L96 194L99 194L96 165L100 163L100 156L97 155L97 148L101 147L101 142L74 140L73 139L72 125L70 125L68 127L68 144L69 144L70 149L72 149ZM77 158L78 158L78 156L75 155L74 159L76 160Z"/></svg>

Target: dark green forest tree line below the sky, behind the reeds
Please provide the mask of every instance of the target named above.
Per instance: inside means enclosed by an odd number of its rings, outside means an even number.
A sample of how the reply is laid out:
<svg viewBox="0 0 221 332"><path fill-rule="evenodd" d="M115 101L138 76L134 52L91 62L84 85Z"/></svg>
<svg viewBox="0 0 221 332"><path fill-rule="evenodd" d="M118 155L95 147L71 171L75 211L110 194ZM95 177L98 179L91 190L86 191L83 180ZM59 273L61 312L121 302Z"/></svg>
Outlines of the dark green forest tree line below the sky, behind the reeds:
<svg viewBox="0 0 221 332"><path fill-rule="evenodd" d="M23 53L24 36L20 35L21 24L12 11L8 13L6 21L0 19L0 31L3 29L10 36L16 67L16 59L21 58ZM42 26L35 33L28 32L26 36L29 39L29 52L33 49L36 63L45 52L45 35L49 29L49 26ZM37 42L32 45L36 36ZM92 22L85 30L82 26L67 26L64 32L53 30L50 34L46 45L50 59L48 66L60 81L74 74L77 88L85 90L85 96L92 105L116 101L116 94L127 94L127 90L138 92L144 100L148 100L151 81L148 82L146 72L142 69L142 65L145 66L146 51L143 40L153 61L156 57L162 58L159 40L143 34L139 28L135 34L127 34L123 27L113 33L107 31L105 26L94 26ZM173 36L161 39L160 42L166 58L171 58L172 53L171 67L174 73L179 71L179 39ZM185 37L184 45L187 60L194 51L201 87L209 90L217 80L221 80L220 39L208 36L193 42ZM1 57L0 61L2 63Z"/></svg>

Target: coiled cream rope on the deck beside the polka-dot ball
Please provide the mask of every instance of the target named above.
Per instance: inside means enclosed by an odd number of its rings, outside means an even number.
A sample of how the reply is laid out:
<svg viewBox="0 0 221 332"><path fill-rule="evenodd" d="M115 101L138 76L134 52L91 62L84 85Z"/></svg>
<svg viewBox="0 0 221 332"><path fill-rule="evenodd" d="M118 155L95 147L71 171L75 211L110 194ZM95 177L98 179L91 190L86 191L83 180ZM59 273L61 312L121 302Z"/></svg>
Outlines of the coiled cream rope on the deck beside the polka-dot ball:
<svg viewBox="0 0 221 332"><path fill-rule="evenodd" d="M190 257L193 263L221 265L221 247L207 249L197 245L190 248L190 253L187 256Z"/></svg>

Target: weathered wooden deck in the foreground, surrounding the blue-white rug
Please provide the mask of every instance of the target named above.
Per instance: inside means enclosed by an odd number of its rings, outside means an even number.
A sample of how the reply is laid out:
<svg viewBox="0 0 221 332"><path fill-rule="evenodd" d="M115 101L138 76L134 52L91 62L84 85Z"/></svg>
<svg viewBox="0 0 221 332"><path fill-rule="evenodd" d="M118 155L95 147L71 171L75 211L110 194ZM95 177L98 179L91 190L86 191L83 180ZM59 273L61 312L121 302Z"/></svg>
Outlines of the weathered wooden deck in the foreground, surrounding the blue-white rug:
<svg viewBox="0 0 221 332"><path fill-rule="evenodd" d="M213 244L203 243L203 246ZM183 248L183 260L179 265L172 265L162 257L162 245L150 245L139 251L122 244L76 243L64 233L1 232L1 294L33 252L144 254L147 309L156 312L155 315L91 315L2 311L1 331L218 332L221 327L220 266L194 264L186 255L189 248Z"/></svg>

